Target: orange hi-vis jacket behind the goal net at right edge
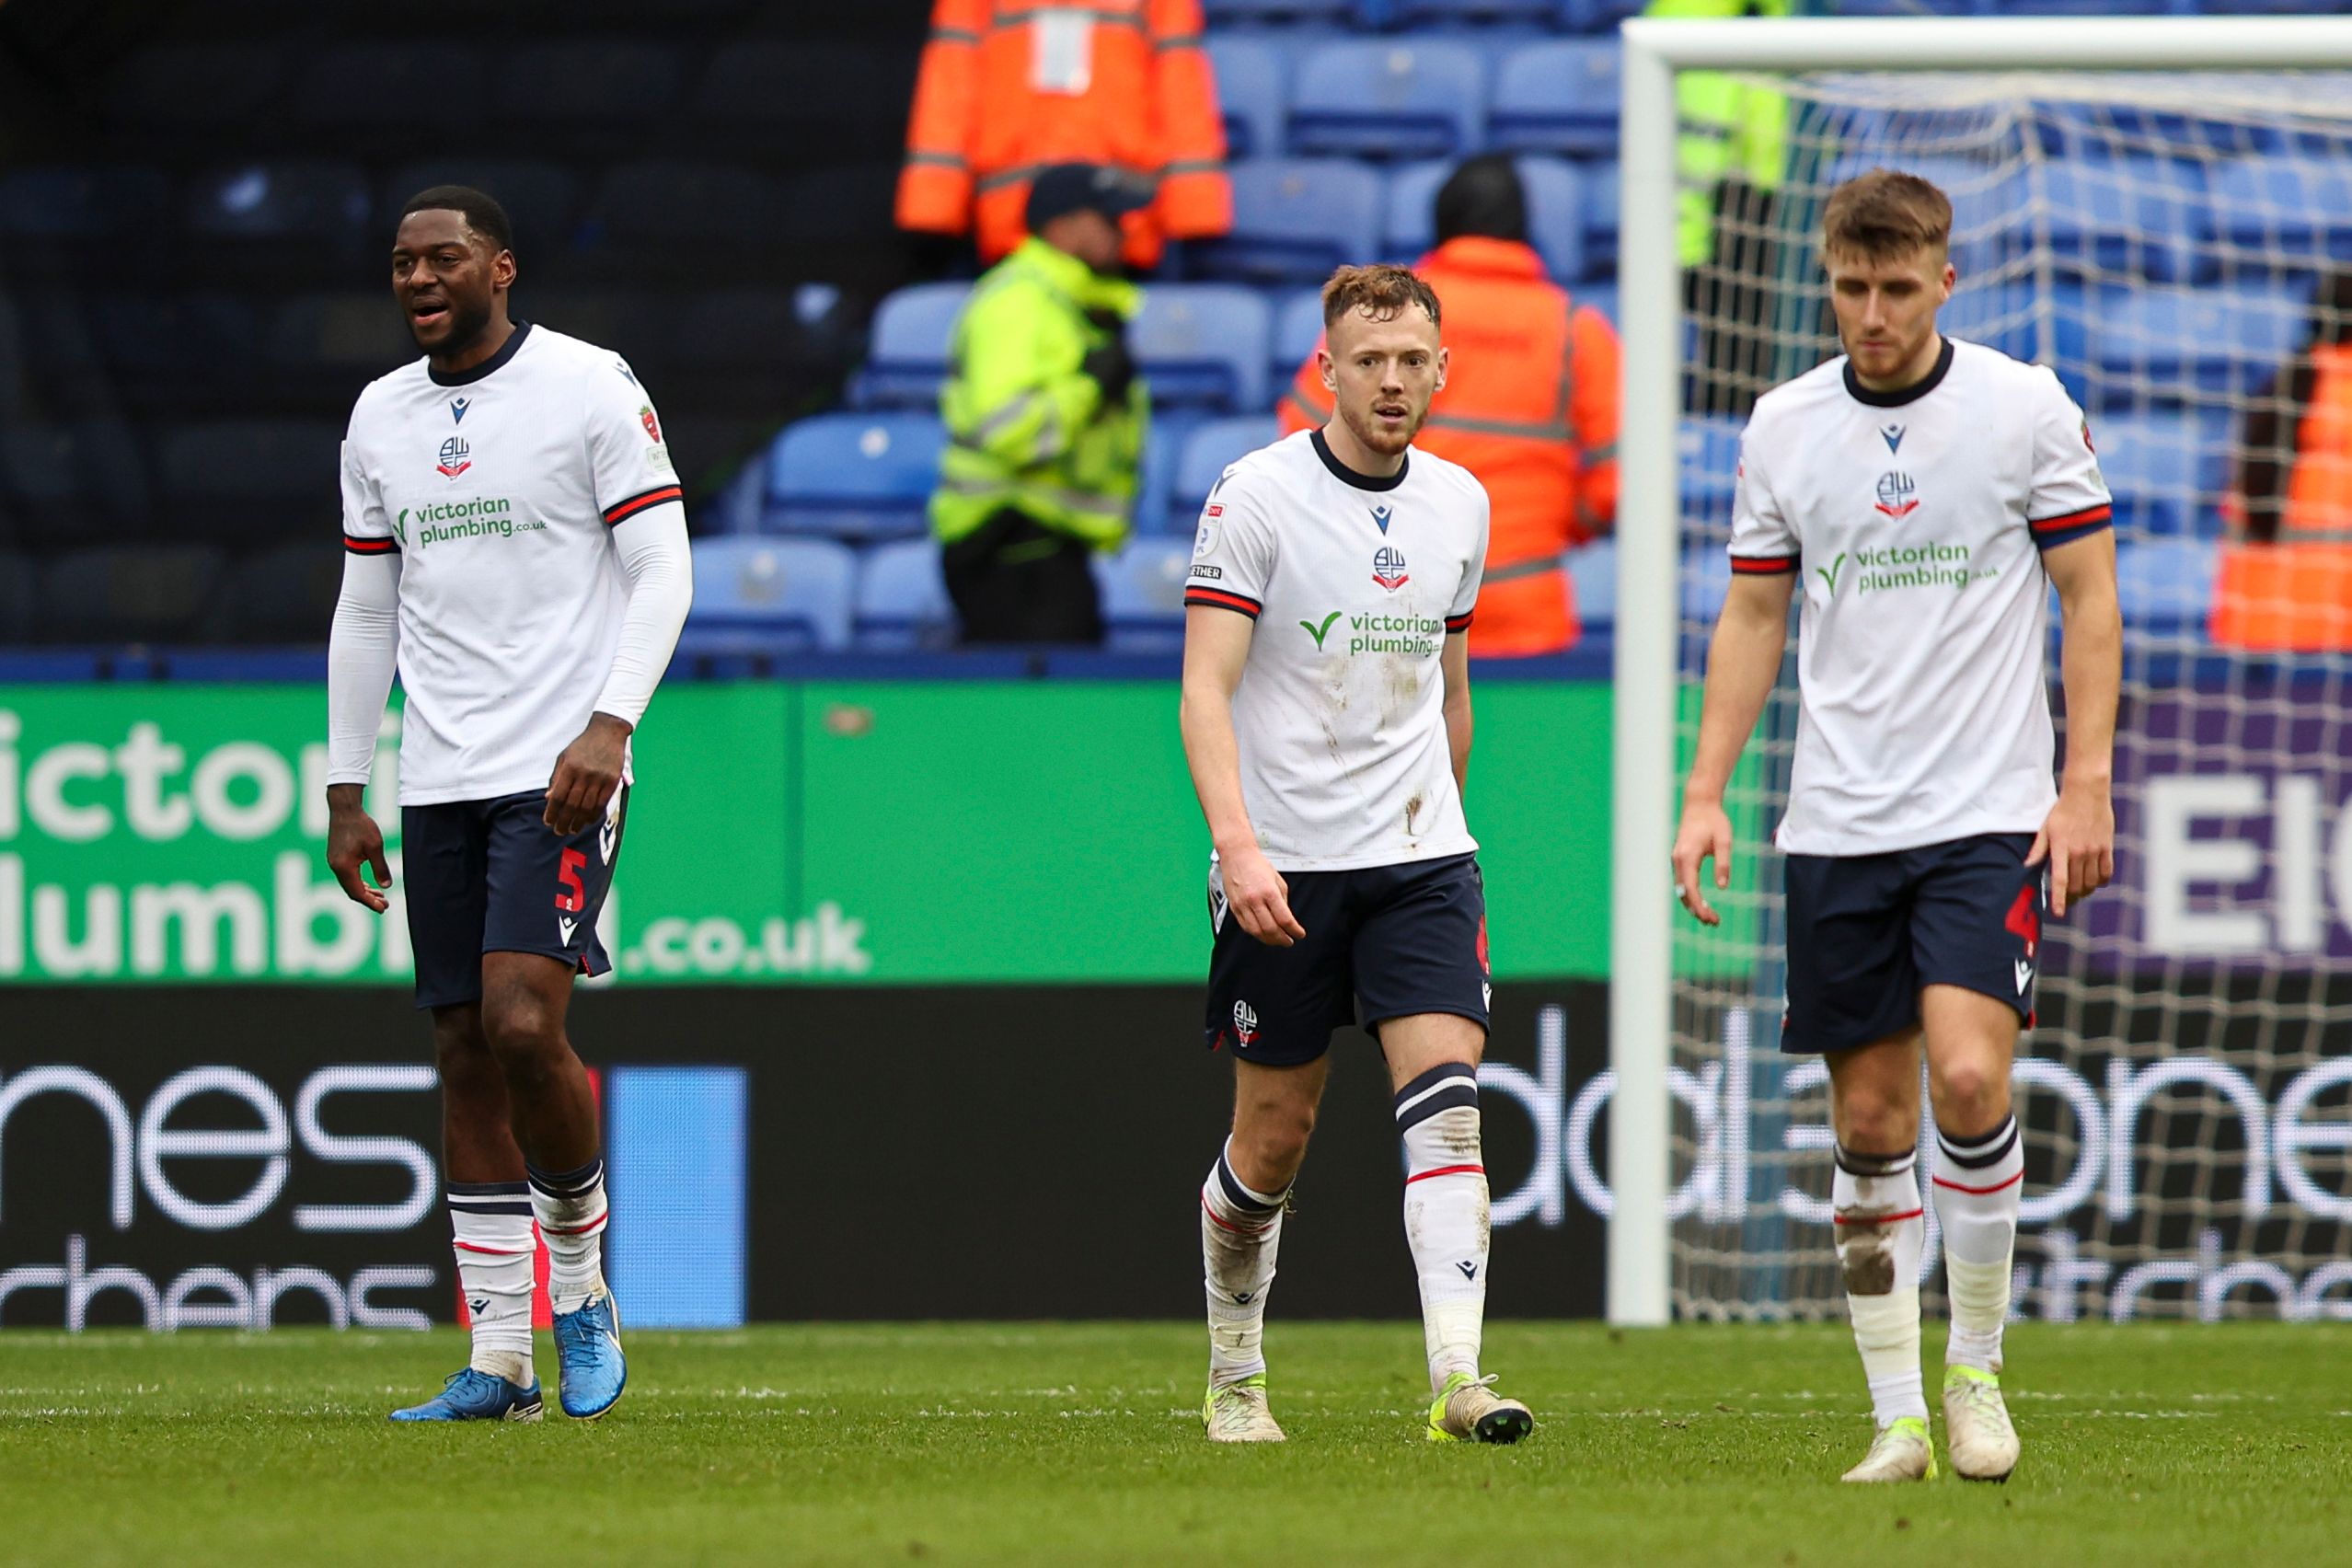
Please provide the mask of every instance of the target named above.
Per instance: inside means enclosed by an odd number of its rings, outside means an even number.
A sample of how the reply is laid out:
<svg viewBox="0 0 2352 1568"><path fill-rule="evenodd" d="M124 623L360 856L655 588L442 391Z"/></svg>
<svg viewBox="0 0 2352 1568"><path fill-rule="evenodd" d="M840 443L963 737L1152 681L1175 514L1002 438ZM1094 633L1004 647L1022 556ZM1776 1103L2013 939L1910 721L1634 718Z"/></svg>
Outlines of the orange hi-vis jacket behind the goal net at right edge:
<svg viewBox="0 0 2352 1568"><path fill-rule="evenodd" d="M2277 541L2223 548L2213 642L2234 649L2352 649L2352 343L2314 343L2312 397Z"/></svg>

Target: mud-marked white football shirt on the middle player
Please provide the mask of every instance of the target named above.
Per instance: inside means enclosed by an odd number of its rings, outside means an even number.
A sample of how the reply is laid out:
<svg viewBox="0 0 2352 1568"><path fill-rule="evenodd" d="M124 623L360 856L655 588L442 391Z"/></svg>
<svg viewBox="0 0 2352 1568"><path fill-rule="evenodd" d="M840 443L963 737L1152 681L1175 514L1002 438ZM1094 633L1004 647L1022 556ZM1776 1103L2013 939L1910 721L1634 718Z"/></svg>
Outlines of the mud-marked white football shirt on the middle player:
<svg viewBox="0 0 2352 1568"><path fill-rule="evenodd" d="M1439 656L1470 628L1484 569L1486 489L1428 451L1374 480L1301 430L1209 491L1185 604L1258 623L1232 729L1242 802L1275 870L1477 849L1454 788Z"/></svg>

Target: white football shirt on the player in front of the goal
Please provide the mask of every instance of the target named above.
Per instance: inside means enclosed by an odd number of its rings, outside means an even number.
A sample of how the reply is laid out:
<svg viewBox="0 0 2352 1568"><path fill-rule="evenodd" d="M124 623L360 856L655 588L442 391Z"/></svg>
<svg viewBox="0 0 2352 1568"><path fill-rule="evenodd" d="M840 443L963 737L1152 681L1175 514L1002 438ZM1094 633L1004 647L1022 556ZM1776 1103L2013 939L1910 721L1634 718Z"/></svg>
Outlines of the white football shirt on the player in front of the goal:
<svg viewBox="0 0 2352 1568"><path fill-rule="evenodd" d="M1804 597L1783 851L2039 832L2058 802L2042 550L2107 510L2058 376L1978 343L1945 339L1900 393L1839 357L1757 400L1731 569L1802 569Z"/></svg>

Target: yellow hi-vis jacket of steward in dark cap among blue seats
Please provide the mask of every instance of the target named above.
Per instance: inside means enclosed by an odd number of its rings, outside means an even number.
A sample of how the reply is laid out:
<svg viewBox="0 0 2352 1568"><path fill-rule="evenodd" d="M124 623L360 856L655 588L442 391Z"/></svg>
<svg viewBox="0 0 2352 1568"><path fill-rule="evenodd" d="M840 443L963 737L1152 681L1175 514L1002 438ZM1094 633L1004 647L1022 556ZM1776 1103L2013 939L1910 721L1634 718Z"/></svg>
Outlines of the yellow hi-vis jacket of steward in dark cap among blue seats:
<svg viewBox="0 0 2352 1568"><path fill-rule="evenodd" d="M938 393L948 449L931 531L941 543L974 534L1002 508L1096 550L1124 543L1150 393L1136 376L1127 402L1105 404L1080 362L1105 341L1087 313L1127 320L1138 303L1131 282L1098 277L1035 237L981 275L955 322Z"/></svg>

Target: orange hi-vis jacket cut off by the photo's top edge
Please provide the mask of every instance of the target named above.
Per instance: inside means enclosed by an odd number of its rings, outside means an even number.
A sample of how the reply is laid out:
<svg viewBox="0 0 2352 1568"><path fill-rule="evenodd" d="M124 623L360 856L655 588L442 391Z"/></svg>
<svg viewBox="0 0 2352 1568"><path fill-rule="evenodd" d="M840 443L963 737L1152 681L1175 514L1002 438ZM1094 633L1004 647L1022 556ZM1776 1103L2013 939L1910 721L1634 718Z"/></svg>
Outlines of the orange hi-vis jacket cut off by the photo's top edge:
<svg viewBox="0 0 2352 1568"><path fill-rule="evenodd" d="M1160 181L1127 259L1232 228L1225 127L1200 0L934 0L898 176L898 228L978 230L995 261L1028 233L1030 179L1056 162Z"/></svg>

